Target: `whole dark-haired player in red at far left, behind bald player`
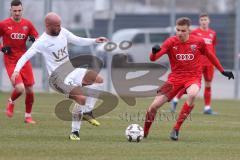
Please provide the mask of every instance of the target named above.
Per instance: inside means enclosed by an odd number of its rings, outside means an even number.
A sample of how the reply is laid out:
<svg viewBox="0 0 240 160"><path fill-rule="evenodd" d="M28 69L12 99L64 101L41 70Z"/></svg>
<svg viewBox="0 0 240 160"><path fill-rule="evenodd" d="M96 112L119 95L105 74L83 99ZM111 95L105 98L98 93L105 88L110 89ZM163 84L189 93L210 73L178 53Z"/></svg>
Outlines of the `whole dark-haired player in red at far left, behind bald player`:
<svg viewBox="0 0 240 160"><path fill-rule="evenodd" d="M22 18L23 7L21 1L13 0L10 12L11 17L0 22L0 37L2 37L3 42L1 51L4 54L4 64L9 77L11 77L17 61L27 50L26 41L29 39L34 42L35 38L38 37L38 32L33 24L29 20ZM34 101L33 84L32 65L27 62L17 77L16 83L13 84L14 90L6 108L8 117L13 116L14 102L25 91L25 122L35 123L31 117Z"/></svg>

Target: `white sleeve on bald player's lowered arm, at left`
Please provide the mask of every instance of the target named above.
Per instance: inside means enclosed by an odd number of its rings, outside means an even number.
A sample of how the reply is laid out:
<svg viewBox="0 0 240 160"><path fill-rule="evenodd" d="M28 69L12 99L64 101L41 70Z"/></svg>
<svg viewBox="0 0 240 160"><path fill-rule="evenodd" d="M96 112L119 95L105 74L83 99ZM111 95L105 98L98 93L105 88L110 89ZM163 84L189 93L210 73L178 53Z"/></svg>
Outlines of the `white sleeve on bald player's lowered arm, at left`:
<svg viewBox="0 0 240 160"><path fill-rule="evenodd" d="M24 53L22 55L22 57L18 60L17 65L16 65L16 67L14 69L14 72L15 71L19 72L22 69L22 67L24 66L24 64L38 52L39 51L36 48L34 48L34 45L32 45L32 47L30 47L27 50L27 52Z"/></svg>

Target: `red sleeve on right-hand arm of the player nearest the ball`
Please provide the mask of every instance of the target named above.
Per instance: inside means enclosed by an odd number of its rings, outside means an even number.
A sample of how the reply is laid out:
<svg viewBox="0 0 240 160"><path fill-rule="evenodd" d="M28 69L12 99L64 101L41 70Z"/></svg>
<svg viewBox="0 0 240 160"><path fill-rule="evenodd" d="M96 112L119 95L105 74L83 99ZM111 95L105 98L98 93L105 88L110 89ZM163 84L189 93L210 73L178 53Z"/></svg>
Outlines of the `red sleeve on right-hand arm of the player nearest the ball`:
<svg viewBox="0 0 240 160"><path fill-rule="evenodd" d="M201 44L202 44L202 49L203 49L202 53L207 56L207 58L209 59L209 61L210 61L220 72L223 72L224 69L223 69L221 63L219 62L217 56L214 55L214 54L211 54L211 53L209 52L209 50L208 50L208 48L206 47L206 44L204 43L204 41L202 41Z"/></svg>

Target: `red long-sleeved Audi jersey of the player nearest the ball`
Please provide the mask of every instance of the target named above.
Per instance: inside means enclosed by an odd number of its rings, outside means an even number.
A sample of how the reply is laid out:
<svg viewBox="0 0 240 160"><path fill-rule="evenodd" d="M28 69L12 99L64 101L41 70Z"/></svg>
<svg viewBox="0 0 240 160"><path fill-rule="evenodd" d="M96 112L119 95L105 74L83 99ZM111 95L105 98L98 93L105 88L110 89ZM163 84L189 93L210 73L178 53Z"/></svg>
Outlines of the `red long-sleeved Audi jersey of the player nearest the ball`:
<svg viewBox="0 0 240 160"><path fill-rule="evenodd" d="M199 78L202 76L201 56L206 55L208 59L223 72L223 67L216 56L213 56L202 38L189 35L186 42L181 42L177 36L172 36L163 42L161 51L151 54L152 61L157 60L163 54L168 54L172 73L170 79Z"/></svg>

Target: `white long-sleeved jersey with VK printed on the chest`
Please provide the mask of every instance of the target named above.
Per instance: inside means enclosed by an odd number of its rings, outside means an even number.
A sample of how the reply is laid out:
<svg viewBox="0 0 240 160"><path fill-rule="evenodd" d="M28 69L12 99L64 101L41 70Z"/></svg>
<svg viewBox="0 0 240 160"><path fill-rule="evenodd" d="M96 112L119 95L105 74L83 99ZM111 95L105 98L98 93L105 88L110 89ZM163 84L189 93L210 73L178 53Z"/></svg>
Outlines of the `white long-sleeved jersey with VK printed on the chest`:
<svg viewBox="0 0 240 160"><path fill-rule="evenodd" d="M47 65L48 74L51 75L57 67L69 61L68 43L88 46L96 43L96 39L75 36L65 28L61 28L58 36L50 36L44 32L18 60L14 71L19 72L31 57L41 53Z"/></svg>

